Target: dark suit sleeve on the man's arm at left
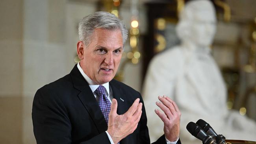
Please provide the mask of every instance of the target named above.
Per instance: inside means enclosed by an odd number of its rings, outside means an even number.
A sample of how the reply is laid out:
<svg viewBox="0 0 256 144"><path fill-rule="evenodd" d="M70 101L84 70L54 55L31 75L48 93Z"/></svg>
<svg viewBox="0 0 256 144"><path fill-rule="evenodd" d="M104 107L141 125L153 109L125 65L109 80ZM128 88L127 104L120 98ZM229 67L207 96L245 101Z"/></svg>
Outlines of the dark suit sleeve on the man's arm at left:
<svg viewBox="0 0 256 144"><path fill-rule="evenodd" d="M37 90L32 107L33 131L37 144L71 144L72 125L65 105L50 90ZM80 144L110 144L106 132Z"/></svg>

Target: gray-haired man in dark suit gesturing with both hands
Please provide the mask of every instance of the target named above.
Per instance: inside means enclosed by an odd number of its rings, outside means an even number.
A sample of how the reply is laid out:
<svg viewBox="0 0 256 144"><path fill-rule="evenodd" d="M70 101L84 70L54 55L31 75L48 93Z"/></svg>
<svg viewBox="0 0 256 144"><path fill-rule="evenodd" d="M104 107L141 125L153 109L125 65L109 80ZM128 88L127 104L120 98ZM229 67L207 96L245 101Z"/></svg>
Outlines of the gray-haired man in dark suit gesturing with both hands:
<svg viewBox="0 0 256 144"><path fill-rule="evenodd" d="M141 94L114 80L127 38L124 24L107 12L96 12L79 24L80 63L70 74L37 90L32 108L38 144L149 144ZM175 144L180 111L166 96L155 110L164 133L155 143ZM111 106L110 106L111 105ZM180 141L178 141L180 143Z"/></svg>

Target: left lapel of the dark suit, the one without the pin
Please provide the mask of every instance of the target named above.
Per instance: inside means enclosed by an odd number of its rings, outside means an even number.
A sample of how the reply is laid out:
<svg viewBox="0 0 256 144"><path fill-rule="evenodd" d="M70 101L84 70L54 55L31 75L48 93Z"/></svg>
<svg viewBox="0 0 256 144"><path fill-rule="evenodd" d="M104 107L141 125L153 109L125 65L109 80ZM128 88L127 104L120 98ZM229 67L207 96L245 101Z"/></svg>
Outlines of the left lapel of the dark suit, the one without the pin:
<svg viewBox="0 0 256 144"><path fill-rule="evenodd" d="M74 88L81 91L78 94L78 98L90 114L99 133L103 133L108 129L108 125L100 110L98 102L96 101L95 96L89 87L89 84L87 81L85 81L82 74L79 72L77 65L75 65L70 72L70 76L72 78Z"/></svg>

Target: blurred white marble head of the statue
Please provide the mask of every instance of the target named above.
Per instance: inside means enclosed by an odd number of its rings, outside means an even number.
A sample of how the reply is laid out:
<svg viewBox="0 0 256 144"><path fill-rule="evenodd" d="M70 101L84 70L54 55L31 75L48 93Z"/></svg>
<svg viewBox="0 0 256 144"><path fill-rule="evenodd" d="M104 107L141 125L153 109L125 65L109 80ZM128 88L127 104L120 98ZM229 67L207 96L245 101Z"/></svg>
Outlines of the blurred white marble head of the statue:
<svg viewBox="0 0 256 144"><path fill-rule="evenodd" d="M180 13L176 27L182 42L197 47L210 46L216 31L215 8L209 0L191 0Z"/></svg>

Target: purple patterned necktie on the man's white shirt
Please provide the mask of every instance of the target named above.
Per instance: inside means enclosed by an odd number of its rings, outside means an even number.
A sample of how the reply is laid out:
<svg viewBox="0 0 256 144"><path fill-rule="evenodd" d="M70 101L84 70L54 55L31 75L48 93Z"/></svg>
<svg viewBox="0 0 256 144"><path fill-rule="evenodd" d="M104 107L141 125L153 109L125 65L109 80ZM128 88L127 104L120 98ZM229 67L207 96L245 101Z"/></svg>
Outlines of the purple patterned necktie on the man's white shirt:
<svg viewBox="0 0 256 144"><path fill-rule="evenodd" d="M111 103L109 102L107 96L106 96L106 88L100 85L96 90L95 93L98 96L98 104L100 106L100 110L102 111L102 114L104 115L104 118L108 124L108 114L110 112L110 106Z"/></svg>

